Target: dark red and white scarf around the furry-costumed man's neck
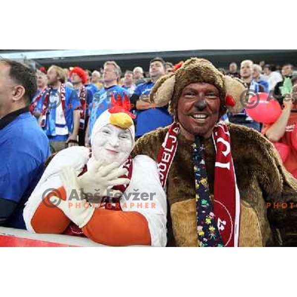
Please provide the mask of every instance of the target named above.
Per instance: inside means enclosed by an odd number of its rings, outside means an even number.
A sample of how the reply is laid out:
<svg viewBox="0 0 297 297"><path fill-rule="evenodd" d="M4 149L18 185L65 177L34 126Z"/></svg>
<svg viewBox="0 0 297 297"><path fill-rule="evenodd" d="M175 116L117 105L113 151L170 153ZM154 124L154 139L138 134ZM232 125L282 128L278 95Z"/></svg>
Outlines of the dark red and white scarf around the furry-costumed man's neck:
<svg viewBox="0 0 297 297"><path fill-rule="evenodd" d="M177 146L180 127L173 123L158 154L160 181L165 188ZM223 121L217 123L212 134L216 149L214 171L214 215L225 247L238 247L240 225L240 195L231 155L230 134Z"/></svg>

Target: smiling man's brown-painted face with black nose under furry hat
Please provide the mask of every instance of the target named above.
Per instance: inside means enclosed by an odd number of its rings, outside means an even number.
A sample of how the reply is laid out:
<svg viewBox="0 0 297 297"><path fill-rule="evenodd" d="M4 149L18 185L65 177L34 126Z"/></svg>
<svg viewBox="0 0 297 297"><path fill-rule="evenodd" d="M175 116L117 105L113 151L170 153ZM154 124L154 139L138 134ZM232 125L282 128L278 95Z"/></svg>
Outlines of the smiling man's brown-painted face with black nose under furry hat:
<svg viewBox="0 0 297 297"><path fill-rule="evenodd" d="M209 138L218 121L219 111L219 90L214 85L192 83L186 86L177 107L182 133L191 140L195 139L195 135Z"/></svg>

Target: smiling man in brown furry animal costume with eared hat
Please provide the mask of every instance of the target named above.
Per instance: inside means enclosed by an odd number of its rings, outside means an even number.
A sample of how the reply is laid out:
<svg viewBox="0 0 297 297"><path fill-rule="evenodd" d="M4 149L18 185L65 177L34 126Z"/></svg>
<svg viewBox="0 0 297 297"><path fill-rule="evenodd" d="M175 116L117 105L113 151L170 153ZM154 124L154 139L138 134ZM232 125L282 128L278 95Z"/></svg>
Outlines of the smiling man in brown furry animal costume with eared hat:
<svg viewBox="0 0 297 297"><path fill-rule="evenodd" d="M232 187L239 191L233 189L232 195L223 197L226 203L230 202L226 197L232 201L240 197L236 207L235 202L231 203L231 208L235 209L234 217L230 216L231 229L228 231L233 240L231 246L297 246L297 180L282 166L273 145L260 133L244 126L218 123L227 111L226 105L233 105L228 107L231 111L243 108L240 95L244 90L240 81L224 76L209 61L192 58L175 73L160 78L151 91L150 99L156 106L169 103L169 111L175 117L176 127L179 127L176 130L178 145L176 152L170 155L172 161L169 161L168 178L165 179L169 207L168 246L230 246L223 234L228 223L226 225L226 219L223 221L217 215L217 203L214 202L218 199L216 196L222 195L220 192L228 192ZM221 152L226 156L230 151L227 157L234 168L235 179L228 172L228 179L224 180L226 168L225 171L217 168L220 140L216 143L215 137L221 127L225 127L224 137L227 137L221 140L226 145L226 150L224 147ZM145 134L137 142L132 155L147 154L160 165L160 149L168 142L169 130L170 126ZM194 163L194 144L198 145L198 150L202 148L203 154L199 157L202 158L200 163L205 164L204 184L197 178L199 165ZM203 168L200 172L203 175ZM215 172L220 172L220 175ZM224 188L224 184L229 187ZM203 192L198 192L201 187ZM199 197L206 194L209 194L209 202L202 199L202 204L210 204L210 216L208 213L206 221L201 222L200 216L205 211L200 211ZM216 224L206 225L210 224L212 217L215 217ZM221 228L219 223L222 221L225 225L221 224ZM207 237L205 232L209 231L205 228L208 226L211 226L208 229L212 233ZM219 235L215 233L217 231ZM221 236L220 240L214 234Z"/></svg>

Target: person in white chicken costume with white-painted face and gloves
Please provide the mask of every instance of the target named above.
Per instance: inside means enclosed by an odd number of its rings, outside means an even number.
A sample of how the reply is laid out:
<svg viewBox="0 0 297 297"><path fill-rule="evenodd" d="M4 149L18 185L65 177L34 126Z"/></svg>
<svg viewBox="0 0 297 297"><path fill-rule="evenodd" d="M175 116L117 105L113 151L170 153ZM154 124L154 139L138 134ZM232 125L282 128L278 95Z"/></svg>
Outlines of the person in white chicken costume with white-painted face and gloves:
<svg viewBox="0 0 297 297"><path fill-rule="evenodd" d="M110 246L166 246L165 192L157 164L130 155L132 118L127 107L114 105L95 123L92 152L66 148L50 160L24 209L29 231L86 236ZM72 199L81 189L85 199Z"/></svg>

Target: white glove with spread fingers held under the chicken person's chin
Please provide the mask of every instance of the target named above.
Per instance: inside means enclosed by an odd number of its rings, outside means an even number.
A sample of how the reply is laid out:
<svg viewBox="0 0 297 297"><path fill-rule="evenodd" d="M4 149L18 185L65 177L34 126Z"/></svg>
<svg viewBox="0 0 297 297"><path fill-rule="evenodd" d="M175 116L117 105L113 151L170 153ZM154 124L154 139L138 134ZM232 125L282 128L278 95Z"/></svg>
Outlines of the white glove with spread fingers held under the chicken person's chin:
<svg viewBox="0 0 297 297"><path fill-rule="evenodd" d="M83 188L84 193L91 193L93 196L95 193L99 193L99 196L103 197L107 196L107 190L113 186L129 184L128 178L119 178L128 173L127 169L115 162L107 166L102 166L102 163L101 160L94 162L92 167L79 177L79 185ZM112 192L112 196L121 196L122 194L117 190L109 192Z"/></svg>

